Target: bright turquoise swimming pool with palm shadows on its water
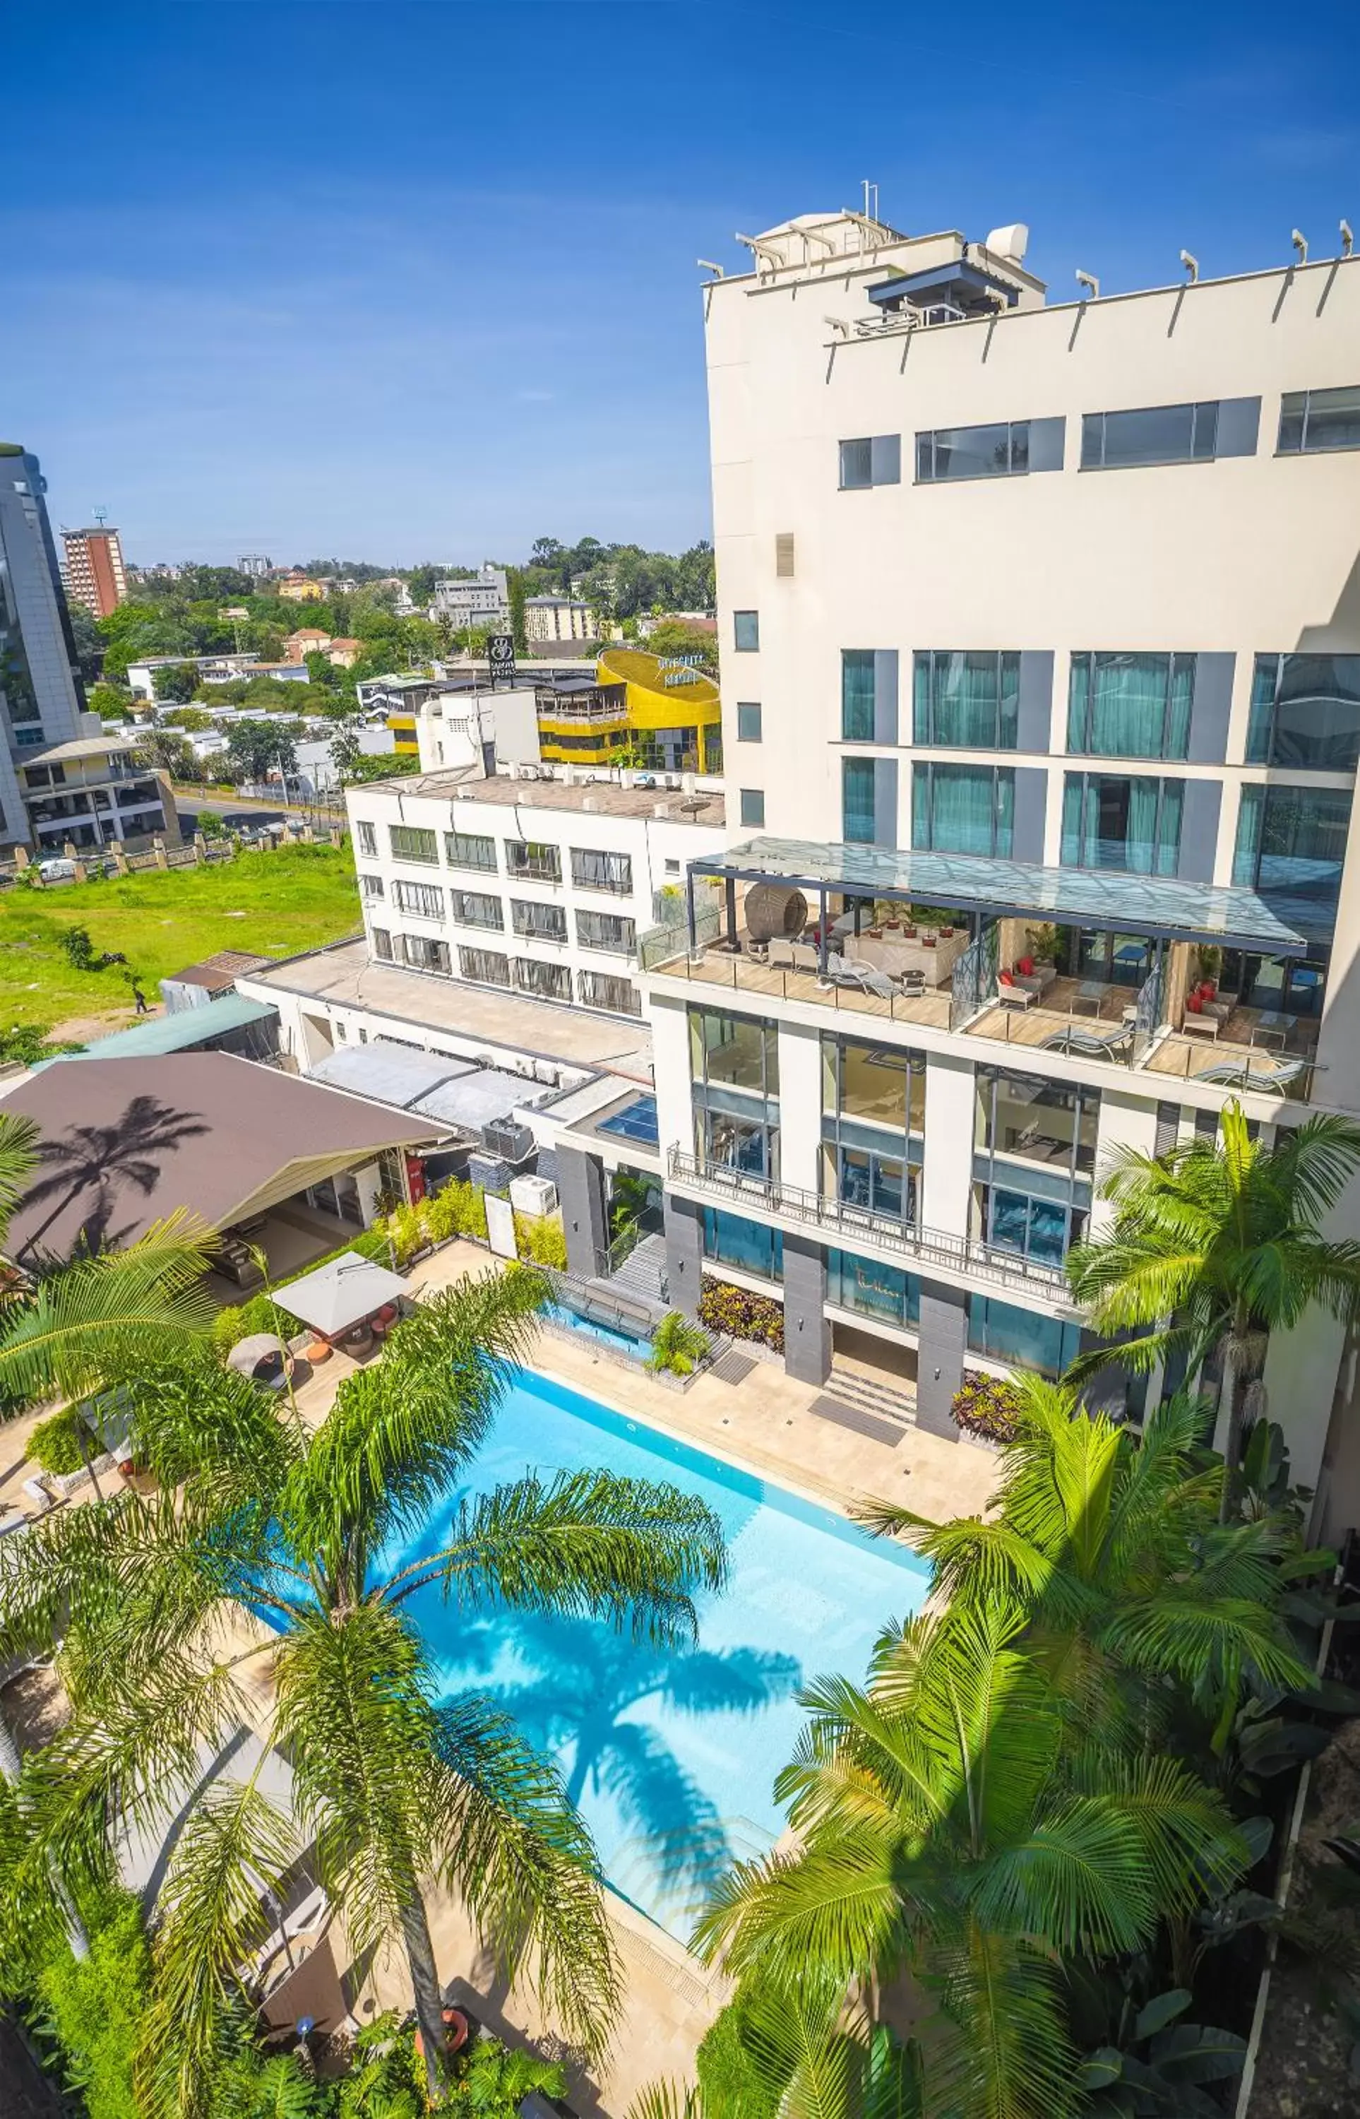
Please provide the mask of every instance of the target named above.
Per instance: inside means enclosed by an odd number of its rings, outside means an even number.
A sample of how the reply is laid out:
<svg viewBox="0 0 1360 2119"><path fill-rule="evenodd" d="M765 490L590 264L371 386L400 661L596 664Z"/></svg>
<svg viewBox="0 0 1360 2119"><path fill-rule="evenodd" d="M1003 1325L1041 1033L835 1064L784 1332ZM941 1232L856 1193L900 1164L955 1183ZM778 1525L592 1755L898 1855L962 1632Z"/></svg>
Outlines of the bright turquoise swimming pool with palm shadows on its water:
<svg viewBox="0 0 1360 2119"><path fill-rule="evenodd" d="M557 1759L612 1888L686 1941L729 1860L763 1854L784 1829L771 1784L803 1725L797 1689L828 1672L860 1678L883 1623L926 1602L930 1570L828 1509L527 1373L466 1492L525 1466L669 1479L722 1519L729 1587L703 1598L697 1649L523 1613L464 1623L436 1589L409 1604L449 1691L489 1693ZM436 1549L453 1509L405 1557Z"/></svg>

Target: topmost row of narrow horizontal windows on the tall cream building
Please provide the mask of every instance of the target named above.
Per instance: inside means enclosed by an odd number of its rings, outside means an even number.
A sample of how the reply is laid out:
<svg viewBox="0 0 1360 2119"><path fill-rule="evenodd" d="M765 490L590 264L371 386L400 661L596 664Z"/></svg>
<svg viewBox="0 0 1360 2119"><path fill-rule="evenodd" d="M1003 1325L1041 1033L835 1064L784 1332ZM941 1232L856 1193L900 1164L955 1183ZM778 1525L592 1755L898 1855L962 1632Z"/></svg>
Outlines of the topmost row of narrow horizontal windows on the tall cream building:
<svg viewBox="0 0 1360 2119"><path fill-rule="evenodd" d="M1224 456L1256 456L1260 398L1199 398L1188 405L1140 405L1129 411L1080 415L1080 468L1131 470L1144 464L1199 464ZM1320 456L1360 449L1360 386L1286 390L1280 400L1275 451ZM938 426L915 437L919 485L947 479L1008 479L1061 470L1066 420L994 420L981 426ZM858 434L839 443L841 492L898 485L900 434Z"/></svg>

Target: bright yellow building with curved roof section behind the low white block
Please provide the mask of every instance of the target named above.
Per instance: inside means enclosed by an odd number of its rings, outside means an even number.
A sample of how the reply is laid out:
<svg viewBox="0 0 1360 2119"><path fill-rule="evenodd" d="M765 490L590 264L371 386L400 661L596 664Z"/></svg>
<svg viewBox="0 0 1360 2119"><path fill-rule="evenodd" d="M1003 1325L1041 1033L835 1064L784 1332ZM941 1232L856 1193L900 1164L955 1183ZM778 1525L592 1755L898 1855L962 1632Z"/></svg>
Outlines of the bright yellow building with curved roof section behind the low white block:
<svg viewBox="0 0 1360 2119"><path fill-rule="evenodd" d="M718 687L688 663L644 648L606 648L595 687L572 699L538 693L542 756L572 765L625 759L652 771L722 771Z"/></svg>

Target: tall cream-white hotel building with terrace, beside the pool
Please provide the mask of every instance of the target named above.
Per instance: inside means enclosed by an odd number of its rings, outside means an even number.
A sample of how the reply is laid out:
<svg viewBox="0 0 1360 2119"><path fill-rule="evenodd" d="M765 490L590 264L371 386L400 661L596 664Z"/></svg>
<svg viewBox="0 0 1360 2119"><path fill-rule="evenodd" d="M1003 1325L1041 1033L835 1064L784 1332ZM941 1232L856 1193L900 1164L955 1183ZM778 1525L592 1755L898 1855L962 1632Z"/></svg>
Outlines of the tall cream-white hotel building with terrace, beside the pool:
<svg viewBox="0 0 1360 2119"><path fill-rule="evenodd" d="M1049 301L1023 248L813 214L703 288L724 911L646 977L672 1301L771 1290L945 1437L1089 1343L1112 1148L1360 1112L1360 259ZM1267 1390L1341 1507L1341 1329Z"/></svg>

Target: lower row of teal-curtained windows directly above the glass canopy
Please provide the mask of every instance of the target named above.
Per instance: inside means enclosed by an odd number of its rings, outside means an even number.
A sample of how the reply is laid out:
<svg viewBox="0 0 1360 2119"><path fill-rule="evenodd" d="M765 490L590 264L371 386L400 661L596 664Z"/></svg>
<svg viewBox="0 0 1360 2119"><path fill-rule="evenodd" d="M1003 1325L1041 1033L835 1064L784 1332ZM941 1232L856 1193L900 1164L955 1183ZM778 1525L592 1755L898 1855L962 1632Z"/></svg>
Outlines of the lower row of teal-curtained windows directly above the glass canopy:
<svg viewBox="0 0 1360 2119"><path fill-rule="evenodd" d="M841 837L849 845L896 843L896 778L881 780L883 773L896 776L896 763L843 759ZM1174 776L1063 773L1061 865L1176 875L1184 807L1186 782ZM1349 816L1347 788L1243 786L1233 882L1335 901ZM883 818L890 818L890 831L881 829ZM746 803L741 822L748 822ZM915 765L911 843L936 854L1013 858L1013 767Z"/></svg>

